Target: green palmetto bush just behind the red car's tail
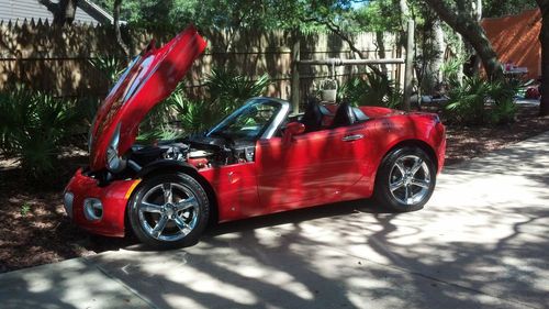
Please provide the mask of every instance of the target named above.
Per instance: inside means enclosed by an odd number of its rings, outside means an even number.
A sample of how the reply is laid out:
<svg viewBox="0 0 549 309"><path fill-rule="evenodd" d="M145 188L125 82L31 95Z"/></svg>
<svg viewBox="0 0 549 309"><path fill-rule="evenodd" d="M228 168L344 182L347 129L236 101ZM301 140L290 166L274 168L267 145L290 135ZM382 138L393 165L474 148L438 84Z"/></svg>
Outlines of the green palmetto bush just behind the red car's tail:
<svg viewBox="0 0 549 309"><path fill-rule="evenodd" d="M509 123L516 114L517 89L518 85L512 81L466 77L461 86L450 89L445 115L449 122L460 124Z"/></svg>

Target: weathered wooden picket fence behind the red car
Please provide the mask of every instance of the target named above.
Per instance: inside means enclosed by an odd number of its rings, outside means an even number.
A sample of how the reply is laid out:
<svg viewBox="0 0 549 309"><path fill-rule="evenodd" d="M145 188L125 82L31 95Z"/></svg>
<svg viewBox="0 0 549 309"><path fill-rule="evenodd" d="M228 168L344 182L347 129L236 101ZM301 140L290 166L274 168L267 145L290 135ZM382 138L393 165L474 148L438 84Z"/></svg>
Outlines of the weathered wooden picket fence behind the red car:
<svg viewBox="0 0 549 309"><path fill-rule="evenodd" d="M0 90L23 82L60 97L104 97L108 80L89 60L102 55L123 57L110 25L72 25L57 27L42 21L0 23ZM149 40L167 42L176 33L125 29L130 49L137 54ZM253 77L267 73L272 85L267 95L288 99L291 86L292 42L290 32L258 32L253 30L202 30L209 47L195 62L184 82L192 96L203 96L204 79L215 66L234 65L242 74ZM299 34L301 59L357 58L338 36L326 33ZM385 57L400 57L396 35L384 34ZM354 35L356 46L368 58L379 58L376 36L371 33ZM389 66L390 76L402 81L399 65ZM303 67L301 92L312 89L313 81L328 76L328 67ZM363 73L363 67L337 67L336 75L344 81Z"/></svg>

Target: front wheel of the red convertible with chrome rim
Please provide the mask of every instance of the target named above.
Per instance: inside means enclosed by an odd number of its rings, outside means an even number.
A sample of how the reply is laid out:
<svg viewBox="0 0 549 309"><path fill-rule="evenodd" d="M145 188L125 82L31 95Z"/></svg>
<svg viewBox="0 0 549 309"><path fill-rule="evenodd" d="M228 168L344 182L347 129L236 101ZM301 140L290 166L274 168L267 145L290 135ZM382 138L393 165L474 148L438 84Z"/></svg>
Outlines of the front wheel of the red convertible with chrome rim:
<svg viewBox="0 0 549 309"><path fill-rule="evenodd" d="M128 203L133 232L141 242L158 250L195 244L208 225L209 216L204 188L183 173L144 179Z"/></svg>

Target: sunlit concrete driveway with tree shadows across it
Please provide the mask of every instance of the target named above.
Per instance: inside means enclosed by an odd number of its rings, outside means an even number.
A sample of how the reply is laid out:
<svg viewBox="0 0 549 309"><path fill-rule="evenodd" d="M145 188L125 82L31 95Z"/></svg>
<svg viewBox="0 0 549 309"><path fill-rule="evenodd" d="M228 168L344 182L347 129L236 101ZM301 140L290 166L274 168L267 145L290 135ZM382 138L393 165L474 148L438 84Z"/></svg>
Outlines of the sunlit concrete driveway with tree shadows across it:
<svg viewBox="0 0 549 309"><path fill-rule="evenodd" d="M0 275L1 308L548 308L549 132L451 166L427 207L350 202Z"/></svg>

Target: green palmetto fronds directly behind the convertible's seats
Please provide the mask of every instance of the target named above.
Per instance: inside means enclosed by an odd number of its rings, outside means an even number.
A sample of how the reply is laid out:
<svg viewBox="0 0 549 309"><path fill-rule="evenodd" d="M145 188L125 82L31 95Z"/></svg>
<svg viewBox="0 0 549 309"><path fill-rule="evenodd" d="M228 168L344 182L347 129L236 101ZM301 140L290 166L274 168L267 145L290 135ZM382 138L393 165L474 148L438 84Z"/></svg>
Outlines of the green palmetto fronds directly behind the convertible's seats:
<svg viewBox="0 0 549 309"><path fill-rule="evenodd" d="M340 100L348 100L355 106L378 106L395 108L402 100L402 95L395 89L394 82L373 73L367 73L366 78L355 77L339 88Z"/></svg>

